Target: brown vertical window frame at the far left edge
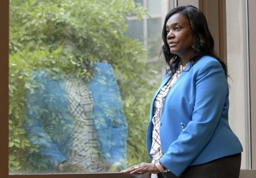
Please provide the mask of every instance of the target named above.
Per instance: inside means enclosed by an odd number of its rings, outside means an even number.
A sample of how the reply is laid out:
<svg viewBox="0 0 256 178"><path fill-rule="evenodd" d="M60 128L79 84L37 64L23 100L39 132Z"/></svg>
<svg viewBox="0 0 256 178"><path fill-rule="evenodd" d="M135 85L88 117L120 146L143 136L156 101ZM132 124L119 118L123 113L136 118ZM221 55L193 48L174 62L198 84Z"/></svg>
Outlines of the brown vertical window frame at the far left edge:
<svg viewBox="0 0 256 178"><path fill-rule="evenodd" d="M8 110L9 110L9 88L8 88L8 71L9 71L9 1L0 1L0 135L2 144L0 146L0 172L4 177L9 174L8 157L9 157L9 139L8 139Z"/></svg>

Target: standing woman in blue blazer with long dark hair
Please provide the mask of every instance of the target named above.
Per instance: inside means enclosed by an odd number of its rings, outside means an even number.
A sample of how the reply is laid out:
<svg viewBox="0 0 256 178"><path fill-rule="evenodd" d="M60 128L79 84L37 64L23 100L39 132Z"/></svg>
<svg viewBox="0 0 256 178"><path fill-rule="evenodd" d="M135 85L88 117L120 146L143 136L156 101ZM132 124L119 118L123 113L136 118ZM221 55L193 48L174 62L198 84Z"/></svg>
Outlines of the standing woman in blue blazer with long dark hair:
<svg viewBox="0 0 256 178"><path fill-rule="evenodd" d="M150 163L123 173L151 177L239 177L242 146L228 124L227 69L203 13L172 9L162 31L166 72L147 129Z"/></svg>

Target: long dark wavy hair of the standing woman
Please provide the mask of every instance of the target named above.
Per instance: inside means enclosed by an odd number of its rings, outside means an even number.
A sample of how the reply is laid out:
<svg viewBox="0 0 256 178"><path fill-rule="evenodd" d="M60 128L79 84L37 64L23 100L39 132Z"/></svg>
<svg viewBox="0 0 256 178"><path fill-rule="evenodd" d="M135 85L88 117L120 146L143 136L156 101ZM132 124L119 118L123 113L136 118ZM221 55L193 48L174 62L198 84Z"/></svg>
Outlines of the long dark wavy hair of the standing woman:
<svg viewBox="0 0 256 178"><path fill-rule="evenodd" d="M220 62L227 78L228 68L223 60L214 51L214 41L208 29L206 18L199 9L191 5L175 7L169 13L167 13L165 17L164 27L162 29L162 40L164 41L164 45L162 46L161 52L165 57L167 65L170 66L170 68L166 70L166 73L173 71L174 64L178 60L178 56L170 52L170 48L166 39L166 23L169 18L176 13L185 15L190 21L190 26L194 35L192 48L196 51L195 55L193 55L191 59L191 65L197 62L203 55L212 56Z"/></svg>

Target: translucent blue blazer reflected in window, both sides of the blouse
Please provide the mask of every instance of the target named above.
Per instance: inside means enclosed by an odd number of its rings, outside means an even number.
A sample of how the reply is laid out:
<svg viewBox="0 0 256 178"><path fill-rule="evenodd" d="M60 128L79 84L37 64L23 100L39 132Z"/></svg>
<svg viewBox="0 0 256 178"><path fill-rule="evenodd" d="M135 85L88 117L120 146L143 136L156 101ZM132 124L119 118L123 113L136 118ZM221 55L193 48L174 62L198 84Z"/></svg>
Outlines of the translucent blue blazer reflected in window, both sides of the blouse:
<svg viewBox="0 0 256 178"><path fill-rule="evenodd" d="M95 63L95 77L87 82L94 98L94 122L101 158L121 169L126 168L128 126L113 68ZM32 73L31 88L26 97L27 137L37 148L28 161L34 166L54 169L69 155L74 120L65 97L65 81L49 70ZM34 88L32 87L34 86Z"/></svg>

